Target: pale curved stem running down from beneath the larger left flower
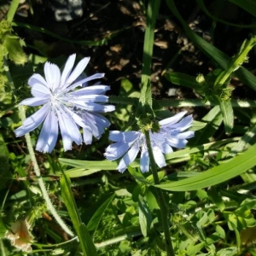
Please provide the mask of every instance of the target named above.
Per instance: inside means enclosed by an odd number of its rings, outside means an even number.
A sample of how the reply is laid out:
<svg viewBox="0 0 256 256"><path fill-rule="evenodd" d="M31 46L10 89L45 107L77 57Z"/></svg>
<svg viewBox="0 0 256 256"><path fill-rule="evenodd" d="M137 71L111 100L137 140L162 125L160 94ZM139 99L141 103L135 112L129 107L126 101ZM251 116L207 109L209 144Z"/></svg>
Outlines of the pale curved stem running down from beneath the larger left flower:
<svg viewBox="0 0 256 256"><path fill-rule="evenodd" d="M19 111L20 111L20 118L21 118L22 122L24 122L24 120L26 119L26 113L25 113L24 107L19 106ZM69 230L69 228L67 227L67 224L64 223L64 221L61 219L59 214L56 212L55 207L53 206L53 204L51 203L51 201L49 199L47 189L45 188L45 185L44 185L43 177L41 176L41 173L40 173L40 169L39 169L39 166L38 166L38 161L36 159L35 152L32 148L32 140L31 140L30 134L26 133L25 138L26 138L26 144L27 144L28 152L30 154L31 161L32 161L32 166L33 166L34 172L36 173L36 176L38 178L38 184L39 184L39 187L42 191L42 195L44 197L44 201L46 203L46 206L47 206L49 212L51 212L51 214L53 215L53 217L57 221L57 223L60 224L61 228L65 232L67 232L67 234L69 236L74 236L73 232L71 230Z"/></svg>

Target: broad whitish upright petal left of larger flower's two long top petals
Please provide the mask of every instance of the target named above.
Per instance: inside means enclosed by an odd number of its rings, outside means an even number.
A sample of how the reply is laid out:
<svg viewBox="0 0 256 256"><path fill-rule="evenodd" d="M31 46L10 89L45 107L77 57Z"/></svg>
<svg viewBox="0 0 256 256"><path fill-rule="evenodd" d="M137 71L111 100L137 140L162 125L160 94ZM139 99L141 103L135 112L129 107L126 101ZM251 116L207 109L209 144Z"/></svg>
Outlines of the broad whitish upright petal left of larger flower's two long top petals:
<svg viewBox="0 0 256 256"><path fill-rule="evenodd" d="M44 76L52 91L59 88L61 82L61 71L57 65L46 62L44 64Z"/></svg>

